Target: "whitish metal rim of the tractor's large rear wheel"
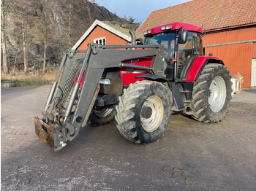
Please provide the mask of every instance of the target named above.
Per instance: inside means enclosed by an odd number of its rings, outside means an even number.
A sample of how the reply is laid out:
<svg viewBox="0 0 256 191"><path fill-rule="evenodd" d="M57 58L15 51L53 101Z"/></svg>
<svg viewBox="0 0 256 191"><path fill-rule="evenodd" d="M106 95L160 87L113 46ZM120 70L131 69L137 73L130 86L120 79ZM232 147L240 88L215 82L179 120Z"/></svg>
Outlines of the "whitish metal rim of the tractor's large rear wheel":
<svg viewBox="0 0 256 191"><path fill-rule="evenodd" d="M210 85L208 103L213 112L219 112L226 100L226 84L222 77L215 77Z"/></svg>

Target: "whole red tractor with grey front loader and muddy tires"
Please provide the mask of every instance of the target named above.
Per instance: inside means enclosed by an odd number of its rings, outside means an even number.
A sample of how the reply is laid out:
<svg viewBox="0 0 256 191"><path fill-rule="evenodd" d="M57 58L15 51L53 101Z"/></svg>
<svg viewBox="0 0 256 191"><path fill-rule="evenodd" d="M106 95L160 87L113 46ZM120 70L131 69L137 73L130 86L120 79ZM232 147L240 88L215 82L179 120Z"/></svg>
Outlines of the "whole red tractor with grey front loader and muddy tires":
<svg viewBox="0 0 256 191"><path fill-rule="evenodd" d="M87 122L105 125L116 119L125 139L147 144L164 135L173 111L200 122L225 117L230 74L219 58L203 55L199 26L157 26L139 44L130 34L130 45L91 43L86 51L64 53L42 120L35 117L37 136L55 151Z"/></svg>

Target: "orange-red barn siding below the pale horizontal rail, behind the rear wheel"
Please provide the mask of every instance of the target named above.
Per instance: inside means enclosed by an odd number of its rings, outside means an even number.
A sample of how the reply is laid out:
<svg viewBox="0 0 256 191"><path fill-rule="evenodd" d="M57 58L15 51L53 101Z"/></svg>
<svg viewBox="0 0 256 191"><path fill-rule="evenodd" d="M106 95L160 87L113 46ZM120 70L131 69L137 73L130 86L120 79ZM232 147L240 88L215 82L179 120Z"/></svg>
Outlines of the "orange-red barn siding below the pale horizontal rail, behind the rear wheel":
<svg viewBox="0 0 256 191"><path fill-rule="evenodd" d="M237 72L244 77L244 87L251 85L252 43L229 44L217 47L206 47L206 55L213 53L222 59L233 76Z"/></svg>

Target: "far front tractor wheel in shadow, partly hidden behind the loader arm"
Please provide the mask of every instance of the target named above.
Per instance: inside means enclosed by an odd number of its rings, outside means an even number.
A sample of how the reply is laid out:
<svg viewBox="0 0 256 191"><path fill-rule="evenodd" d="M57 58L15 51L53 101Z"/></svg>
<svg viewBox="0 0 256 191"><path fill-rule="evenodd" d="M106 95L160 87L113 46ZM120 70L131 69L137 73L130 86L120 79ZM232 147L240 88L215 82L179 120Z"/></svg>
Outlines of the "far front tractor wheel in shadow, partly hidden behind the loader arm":
<svg viewBox="0 0 256 191"><path fill-rule="evenodd" d="M100 126L107 125L115 119L115 106L105 106L97 109L92 109L89 117L89 125Z"/></svg>

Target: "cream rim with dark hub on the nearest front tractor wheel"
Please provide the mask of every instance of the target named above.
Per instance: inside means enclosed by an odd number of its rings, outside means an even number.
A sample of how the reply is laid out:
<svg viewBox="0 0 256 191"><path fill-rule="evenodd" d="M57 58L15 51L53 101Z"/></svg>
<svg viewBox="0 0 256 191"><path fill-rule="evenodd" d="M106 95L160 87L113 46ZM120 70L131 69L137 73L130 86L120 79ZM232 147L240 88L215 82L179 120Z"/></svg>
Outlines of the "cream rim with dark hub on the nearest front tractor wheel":
<svg viewBox="0 0 256 191"><path fill-rule="evenodd" d="M152 95L144 102L140 112L140 122L144 130L153 132L159 128L164 117L164 104L161 98Z"/></svg>

